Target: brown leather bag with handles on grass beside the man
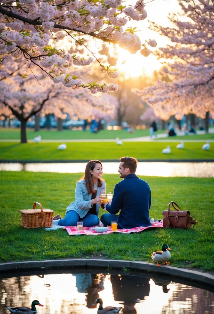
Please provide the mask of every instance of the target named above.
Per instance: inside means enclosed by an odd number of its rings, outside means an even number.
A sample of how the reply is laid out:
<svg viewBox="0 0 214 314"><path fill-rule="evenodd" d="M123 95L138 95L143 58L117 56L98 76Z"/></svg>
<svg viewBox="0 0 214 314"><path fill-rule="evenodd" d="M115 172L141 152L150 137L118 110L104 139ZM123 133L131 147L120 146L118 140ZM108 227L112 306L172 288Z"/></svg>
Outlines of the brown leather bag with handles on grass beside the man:
<svg viewBox="0 0 214 314"><path fill-rule="evenodd" d="M175 211L170 210L172 207ZM197 224L194 218L190 216L189 210L181 210L175 202L170 202L168 210L163 211L163 228L184 228L190 229L191 224Z"/></svg>

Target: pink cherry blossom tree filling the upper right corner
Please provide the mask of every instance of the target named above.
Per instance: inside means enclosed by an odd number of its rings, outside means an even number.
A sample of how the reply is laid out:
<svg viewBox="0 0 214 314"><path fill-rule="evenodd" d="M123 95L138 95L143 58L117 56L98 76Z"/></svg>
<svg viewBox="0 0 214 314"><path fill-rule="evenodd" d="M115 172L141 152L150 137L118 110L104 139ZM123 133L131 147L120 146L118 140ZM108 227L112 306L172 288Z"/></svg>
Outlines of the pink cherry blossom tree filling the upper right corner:
<svg viewBox="0 0 214 314"><path fill-rule="evenodd" d="M173 27L153 23L152 29L167 36L172 45L156 52L164 58L160 79L135 90L154 109L155 115L180 120L188 113L203 119L214 114L214 6L212 0L180 0L180 16L169 17ZM185 16L185 19L184 19ZM161 77L168 75L171 82ZM206 124L208 132L208 124Z"/></svg>

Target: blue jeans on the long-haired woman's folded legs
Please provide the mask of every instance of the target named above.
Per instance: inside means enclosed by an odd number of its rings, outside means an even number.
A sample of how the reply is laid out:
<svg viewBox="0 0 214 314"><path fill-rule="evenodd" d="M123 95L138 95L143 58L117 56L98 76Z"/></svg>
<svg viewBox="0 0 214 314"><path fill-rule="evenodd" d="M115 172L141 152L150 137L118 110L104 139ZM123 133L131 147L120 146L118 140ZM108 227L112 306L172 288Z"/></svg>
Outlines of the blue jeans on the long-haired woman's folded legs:
<svg viewBox="0 0 214 314"><path fill-rule="evenodd" d="M65 218L59 220L59 226L76 226L78 221L83 221L83 227L93 227L99 225L99 217L93 214L86 214L80 219L79 214L74 210L69 210L65 214Z"/></svg>

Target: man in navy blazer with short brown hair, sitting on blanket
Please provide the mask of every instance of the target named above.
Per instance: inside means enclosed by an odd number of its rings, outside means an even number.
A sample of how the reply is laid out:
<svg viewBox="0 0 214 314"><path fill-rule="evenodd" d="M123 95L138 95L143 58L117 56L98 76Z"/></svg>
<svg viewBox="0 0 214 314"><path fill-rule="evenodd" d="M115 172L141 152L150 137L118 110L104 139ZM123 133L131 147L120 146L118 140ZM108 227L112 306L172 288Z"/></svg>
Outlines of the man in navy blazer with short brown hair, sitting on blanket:
<svg viewBox="0 0 214 314"><path fill-rule="evenodd" d="M118 172L124 180L115 185L112 202L105 202L104 209L110 214L102 214L100 220L104 225L117 221L118 229L151 226L151 190L146 181L136 176L137 163L133 157L120 158Z"/></svg>

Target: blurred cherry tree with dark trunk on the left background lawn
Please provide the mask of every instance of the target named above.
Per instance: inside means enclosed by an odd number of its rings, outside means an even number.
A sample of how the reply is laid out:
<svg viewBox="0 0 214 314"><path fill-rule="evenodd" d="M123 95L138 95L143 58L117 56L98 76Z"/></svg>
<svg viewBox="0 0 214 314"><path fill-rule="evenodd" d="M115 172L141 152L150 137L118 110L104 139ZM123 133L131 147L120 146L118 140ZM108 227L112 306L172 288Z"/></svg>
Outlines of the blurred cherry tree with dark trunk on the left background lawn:
<svg viewBox="0 0 214 314"><path fill-rule="evenodd" d="M11 58L4 58L1 63L0 116L13 115L21 121L21 143L27 142L27 121L37 114L54 113L62 119L69 114L87 119L93 108L114 110L103 94L92 95L88 89L80 92L75 87L56 85L35 65L27 68L23 56L19 62L11 62Z"/></svg>

